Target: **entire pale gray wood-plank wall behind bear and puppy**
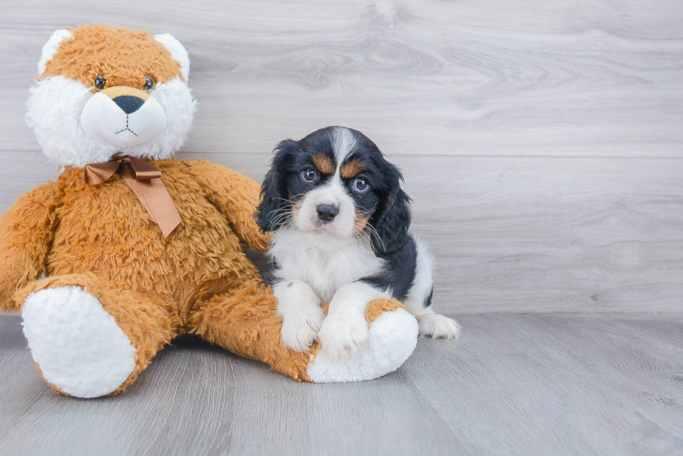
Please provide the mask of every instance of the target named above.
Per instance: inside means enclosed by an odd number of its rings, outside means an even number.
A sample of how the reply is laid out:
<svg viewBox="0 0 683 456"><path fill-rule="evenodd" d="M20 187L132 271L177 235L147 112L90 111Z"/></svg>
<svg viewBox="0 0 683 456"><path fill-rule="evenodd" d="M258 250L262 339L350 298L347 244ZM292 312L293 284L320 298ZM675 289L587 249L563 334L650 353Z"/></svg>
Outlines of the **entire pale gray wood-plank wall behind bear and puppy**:
<svg viewBox="0 0 683 456"><path fill-rule="evenodd" d="M192 58L181 156L260 180L277 141L330 124L399 164L435 306L683 310L683 3L8 1L0 210L56 175L24 125L47 37L170 32ZM237 152L237 153L233 153Z"/></svg>

